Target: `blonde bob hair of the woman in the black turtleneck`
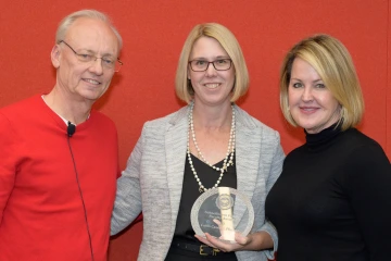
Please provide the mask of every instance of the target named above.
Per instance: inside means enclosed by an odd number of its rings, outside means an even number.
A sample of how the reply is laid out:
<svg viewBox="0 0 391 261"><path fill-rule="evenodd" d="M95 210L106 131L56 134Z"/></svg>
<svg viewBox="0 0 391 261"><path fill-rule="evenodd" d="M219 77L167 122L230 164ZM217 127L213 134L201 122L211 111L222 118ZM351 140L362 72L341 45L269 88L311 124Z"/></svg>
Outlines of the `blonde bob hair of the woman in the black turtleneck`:
<svg viewBox="0 0 391 261"><path fill-rule="evenodd" d="M339 123L342 130L356 126L364 114L364 100L357 74L348 49L328 35L301 40L286 55L280 72L280 105L287 121L297 126L288 102L288 87L295 58L310 63L341 105Z"/></svg>

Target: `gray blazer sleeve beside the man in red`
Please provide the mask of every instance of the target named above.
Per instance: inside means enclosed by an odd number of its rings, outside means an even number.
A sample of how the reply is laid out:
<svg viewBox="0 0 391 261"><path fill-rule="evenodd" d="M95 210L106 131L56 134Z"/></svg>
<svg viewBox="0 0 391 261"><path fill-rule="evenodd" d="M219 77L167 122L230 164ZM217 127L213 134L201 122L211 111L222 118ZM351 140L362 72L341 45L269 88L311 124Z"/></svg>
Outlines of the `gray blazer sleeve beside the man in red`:
<svg viewBox="0 0 391 261"><path fill-rule="evenodd" d="M111 219L111 235L126 228L141 212L140 170L143 150L143 127L141 137L130 153L125 171L117 179L117 191Z"/></svg>

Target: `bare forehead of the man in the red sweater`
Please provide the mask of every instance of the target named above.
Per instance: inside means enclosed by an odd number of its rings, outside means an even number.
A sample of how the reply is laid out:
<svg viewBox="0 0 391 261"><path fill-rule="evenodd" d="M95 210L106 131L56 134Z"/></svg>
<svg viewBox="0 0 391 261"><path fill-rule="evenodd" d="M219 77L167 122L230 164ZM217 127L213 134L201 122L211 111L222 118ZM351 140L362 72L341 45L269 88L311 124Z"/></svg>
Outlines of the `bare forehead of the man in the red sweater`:
<svg viewBox="0 0 391 261"><path fill-rule="evenodd" d="M118 39L112 28L103 21L88 17L76 20L68 28L65 39L75 48L96 52L117 54Z"/></svg>

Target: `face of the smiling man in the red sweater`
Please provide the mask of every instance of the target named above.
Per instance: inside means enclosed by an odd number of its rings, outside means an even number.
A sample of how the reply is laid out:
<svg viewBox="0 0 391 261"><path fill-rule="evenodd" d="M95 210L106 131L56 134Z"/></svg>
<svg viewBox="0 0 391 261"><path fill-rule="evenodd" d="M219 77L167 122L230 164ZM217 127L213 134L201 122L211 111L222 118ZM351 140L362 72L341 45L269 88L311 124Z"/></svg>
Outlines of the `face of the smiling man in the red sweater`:
<svg viewBox="0 0 391 261"><path fill-rule="evenodd" d="M109 88L114 69L103 66L101 59L81 62L74 51L115 61L119 52L115 34L104 22L83 17L71 25L61 40L68 46L61 42L52 51L58 87L71 99L94 102Z"/></svg>

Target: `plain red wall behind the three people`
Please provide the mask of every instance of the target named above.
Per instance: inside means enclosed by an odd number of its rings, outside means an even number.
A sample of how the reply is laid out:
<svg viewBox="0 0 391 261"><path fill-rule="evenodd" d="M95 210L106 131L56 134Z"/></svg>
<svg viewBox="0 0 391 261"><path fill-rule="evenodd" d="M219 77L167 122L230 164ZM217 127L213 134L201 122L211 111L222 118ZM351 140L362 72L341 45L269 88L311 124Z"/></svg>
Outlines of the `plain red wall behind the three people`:
<svg viewBox="0 0 391 261"><path fill-rule="evenodd" d="M303 142L303 132L289 127L279 112L281 60L294 42L311 34L339 38L351 51L364 90L366 113L360 128L391 158L388 0L1 0L0 107L53 87L50 50L58 23L86 8L106 12L124 38L125 65L97 104L117 125L122 167L143 122L182 105L175 98L175 70L188 33L203 22L222 23L237 36L251 76L240 105L280 132L286 152ZM141 226L138 223L112 240L111 261L136 260Z"/></svg>

